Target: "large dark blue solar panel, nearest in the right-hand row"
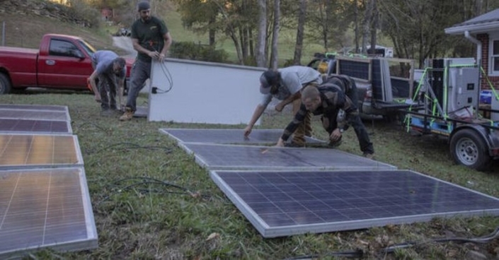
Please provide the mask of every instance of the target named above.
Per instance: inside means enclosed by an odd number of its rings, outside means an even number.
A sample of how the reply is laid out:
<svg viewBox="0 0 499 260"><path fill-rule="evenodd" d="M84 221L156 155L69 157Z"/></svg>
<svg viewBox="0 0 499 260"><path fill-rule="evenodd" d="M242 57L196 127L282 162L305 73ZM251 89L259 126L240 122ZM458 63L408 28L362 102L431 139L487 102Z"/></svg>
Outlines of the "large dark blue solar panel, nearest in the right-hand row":
<svg viewBox="0 0 499 260"><path fill-rule="evenodd" d="M411 171L210 175L263 237L499 215L499 200Z"/></svg>

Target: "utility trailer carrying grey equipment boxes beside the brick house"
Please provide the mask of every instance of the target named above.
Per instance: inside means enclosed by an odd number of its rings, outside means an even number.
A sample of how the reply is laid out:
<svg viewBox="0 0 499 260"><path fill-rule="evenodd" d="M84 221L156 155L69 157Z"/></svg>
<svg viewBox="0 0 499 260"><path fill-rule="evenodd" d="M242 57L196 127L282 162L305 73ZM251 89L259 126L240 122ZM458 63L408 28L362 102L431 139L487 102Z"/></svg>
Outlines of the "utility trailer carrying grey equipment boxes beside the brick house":
<svg viewBox="0 0 499 260"><path fill-rule="evenodd" d="M434 59L415 90L414 106L403 110L407 131L447 137L455 162L488 170L499 159L499 95L491 85L491 109L481 109L483 70L474 59ZM478 63L480 64L480 63ZM483 73L484 74L484 73ZM485 118L487 112L491 118Z"/></svg>

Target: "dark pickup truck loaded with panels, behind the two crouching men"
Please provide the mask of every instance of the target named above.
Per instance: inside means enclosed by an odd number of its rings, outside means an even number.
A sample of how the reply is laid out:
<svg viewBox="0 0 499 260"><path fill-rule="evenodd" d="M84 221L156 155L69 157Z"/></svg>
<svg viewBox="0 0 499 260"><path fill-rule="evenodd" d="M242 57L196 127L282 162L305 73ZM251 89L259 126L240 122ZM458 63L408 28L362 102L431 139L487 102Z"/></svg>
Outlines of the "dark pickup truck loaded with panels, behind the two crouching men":
<svg viewBox="0 0 499 260"><path fill-rule="evenodd" d="M350 76L357 84L359 111L390 118L413 102L418 86L414 64L412 59L316 55L307 66L327 75Z"/></svg>

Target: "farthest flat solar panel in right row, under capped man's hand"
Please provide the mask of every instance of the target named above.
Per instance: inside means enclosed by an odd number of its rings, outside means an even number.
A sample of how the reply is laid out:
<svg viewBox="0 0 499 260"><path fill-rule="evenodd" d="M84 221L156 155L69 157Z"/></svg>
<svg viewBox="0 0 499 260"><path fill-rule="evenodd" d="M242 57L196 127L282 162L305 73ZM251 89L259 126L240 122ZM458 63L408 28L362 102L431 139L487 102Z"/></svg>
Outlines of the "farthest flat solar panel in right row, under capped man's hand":
<svg viewBox="0 0 499 260"><path fill-rule="evenodd" d="M186 143L277 143L282 129L254 129L248 138L243 129L159 129L178 142ZM289 138L291 141L292 138ZM306 136L306 143L323 143Z"/></svg>

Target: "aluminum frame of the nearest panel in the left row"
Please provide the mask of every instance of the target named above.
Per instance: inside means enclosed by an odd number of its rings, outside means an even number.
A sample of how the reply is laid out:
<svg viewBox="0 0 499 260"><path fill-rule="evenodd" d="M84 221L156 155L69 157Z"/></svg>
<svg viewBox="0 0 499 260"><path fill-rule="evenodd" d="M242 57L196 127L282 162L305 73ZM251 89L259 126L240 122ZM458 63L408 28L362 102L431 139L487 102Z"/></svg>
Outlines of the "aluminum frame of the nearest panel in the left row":
<svg viewBox="0 0 499 260"><path fill-rule="evenodd" d="M87 232L87 239L86 240L72 240L71 242L65 242L65 243L60 243L60 244L46 244L43 245L43 247L40 246L33 246L33 247L28 247L28 248L22 248L22 249L13 249L9 251L4 251L0 252L0 259L8 258L8 257L16 257L20 254L25 254L26 252L33 252L40 250L42 248L51 248L55 249L57 251L61 252L74 252L74 251L81 251L81 250L88 250L88 249L96 249L98 247L98 234L97 234L97 229L96 229L96 222L95 218L93 216L93 211L92 211L92 204L90 200L90 193L88 191L88 185L87 185L87 180L86 180L86 174L85 174L85 169L84 167L68 167L68 168L57 168L57 169L50 169L50 170L79 170L79 182L80 182L80 187L81 187L81 199L83 202L83 211L85 214L85 220L86 220L86 232ZM14 172L37 172L37 171L46 171L47 169L28 169L28 170L7 170L7 171L0 171L0 173L14 173Z"/></svg>

